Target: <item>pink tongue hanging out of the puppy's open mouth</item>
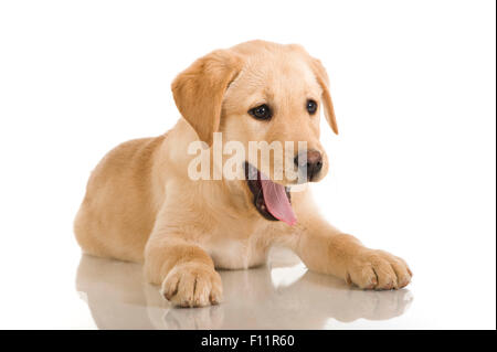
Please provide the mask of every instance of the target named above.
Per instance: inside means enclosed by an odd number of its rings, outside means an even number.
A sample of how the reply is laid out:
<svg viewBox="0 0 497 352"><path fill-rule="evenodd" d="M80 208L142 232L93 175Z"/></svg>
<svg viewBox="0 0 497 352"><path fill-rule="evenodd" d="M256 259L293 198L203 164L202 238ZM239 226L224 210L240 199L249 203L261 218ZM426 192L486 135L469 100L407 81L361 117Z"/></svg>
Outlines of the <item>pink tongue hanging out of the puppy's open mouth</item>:
<svg viewBox="0 0 497 352"><path fill-rule="evenodd" d="M261 184L263 188L264 202L267 210L274 217L281 220L288 225L295 225L297 217L295 216L292 204L286 196L285 186L274 183L261 173Z"/></svg>

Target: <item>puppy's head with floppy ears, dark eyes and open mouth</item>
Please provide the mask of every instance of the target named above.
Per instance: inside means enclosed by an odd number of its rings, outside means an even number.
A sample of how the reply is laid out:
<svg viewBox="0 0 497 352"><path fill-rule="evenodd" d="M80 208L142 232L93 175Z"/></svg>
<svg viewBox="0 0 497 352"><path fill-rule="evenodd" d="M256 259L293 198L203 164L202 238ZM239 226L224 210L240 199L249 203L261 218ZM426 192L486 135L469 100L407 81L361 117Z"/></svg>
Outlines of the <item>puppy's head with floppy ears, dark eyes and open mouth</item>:
<svg viewBox="0 0 497 352"><path fill-rule="evenodd" d="M294 223L286 186L319 181L328 171L319 141L321 106L338 134L321 63L299 45L252 41L197 60L172 92L200 140L211 146L213 134L222 132L224 146L243 146L239 161L260 213ZM288 204L276 201L282 196Z"/></svg>

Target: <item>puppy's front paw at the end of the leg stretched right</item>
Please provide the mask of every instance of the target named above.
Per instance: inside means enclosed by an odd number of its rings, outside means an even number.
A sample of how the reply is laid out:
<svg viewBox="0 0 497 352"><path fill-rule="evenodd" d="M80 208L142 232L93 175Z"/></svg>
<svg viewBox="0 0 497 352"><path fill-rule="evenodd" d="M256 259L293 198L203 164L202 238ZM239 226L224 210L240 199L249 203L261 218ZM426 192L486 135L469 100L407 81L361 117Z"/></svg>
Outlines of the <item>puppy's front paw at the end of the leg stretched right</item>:
<svg viewBox="0 0 497 352"><path fill-rule="evenodd" d="M353 255L347 265L347 282L363 289L399 289L411 282L408 264L384 250L367 249Z"/></svg>

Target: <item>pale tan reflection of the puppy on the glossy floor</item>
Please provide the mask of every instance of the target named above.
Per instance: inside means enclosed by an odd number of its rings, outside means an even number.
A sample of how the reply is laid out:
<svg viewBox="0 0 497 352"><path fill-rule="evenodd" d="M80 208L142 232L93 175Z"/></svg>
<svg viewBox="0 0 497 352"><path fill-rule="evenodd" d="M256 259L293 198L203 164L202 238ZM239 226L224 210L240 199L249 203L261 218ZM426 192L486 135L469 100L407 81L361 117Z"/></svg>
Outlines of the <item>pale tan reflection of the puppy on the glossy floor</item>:
<svg viewBox="0 0 497 352"><path fill-rule="evenodd" d="M412 301L406 289L351 289L307 271L293 258L220 274L224 302L195 309L172 308L158 287L145 282L138 264L84 255L76 286L101 329L322 329L329 318L349 322L398 317Z"/></svg>

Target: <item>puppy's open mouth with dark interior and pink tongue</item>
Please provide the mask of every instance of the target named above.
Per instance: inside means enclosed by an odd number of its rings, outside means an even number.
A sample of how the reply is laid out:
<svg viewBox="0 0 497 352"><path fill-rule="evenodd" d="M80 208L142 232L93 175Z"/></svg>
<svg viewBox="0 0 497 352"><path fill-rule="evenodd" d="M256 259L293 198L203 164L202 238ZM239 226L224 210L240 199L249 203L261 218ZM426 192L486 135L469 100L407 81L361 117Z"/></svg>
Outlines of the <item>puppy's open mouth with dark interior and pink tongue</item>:
<svg viewBox="0 0 497 352"><path fill-rule="evenodd" d="M245 161L245 180L254 195L254 205L258 213L271 221L283 221L295 225L289 189L269 180L264 173Z"/></svg>

